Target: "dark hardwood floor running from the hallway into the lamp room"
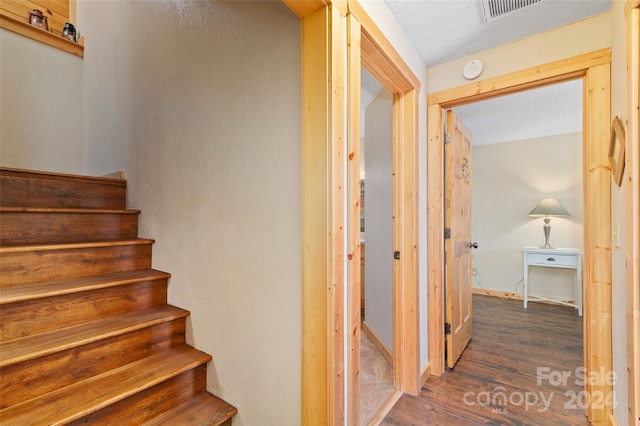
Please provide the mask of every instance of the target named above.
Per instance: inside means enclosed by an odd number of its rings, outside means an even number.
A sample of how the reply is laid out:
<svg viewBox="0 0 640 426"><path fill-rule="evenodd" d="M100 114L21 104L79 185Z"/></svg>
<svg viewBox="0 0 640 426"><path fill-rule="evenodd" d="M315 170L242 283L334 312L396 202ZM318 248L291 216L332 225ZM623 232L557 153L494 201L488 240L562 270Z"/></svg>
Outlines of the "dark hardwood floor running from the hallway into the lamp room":
<svg viewBox="0 0 640 426"><path fill-rule="evenodd" d="M589 425L582 347L574 308L474 295L473 338L454 369L403 395L382 424Z"/></svg>

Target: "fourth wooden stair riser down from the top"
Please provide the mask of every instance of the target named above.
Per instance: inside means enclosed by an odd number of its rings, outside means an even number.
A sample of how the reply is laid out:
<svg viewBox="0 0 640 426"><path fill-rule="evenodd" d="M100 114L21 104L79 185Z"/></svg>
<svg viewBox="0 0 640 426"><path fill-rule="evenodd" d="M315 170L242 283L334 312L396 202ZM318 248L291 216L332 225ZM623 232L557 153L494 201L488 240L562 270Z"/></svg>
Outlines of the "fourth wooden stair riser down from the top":
<svg viewBox="0 0 640 426"><path fill-rule="evenodd" d="M7 341L164 305L167 280L84 291L2 306L0 341Z"/></svg>

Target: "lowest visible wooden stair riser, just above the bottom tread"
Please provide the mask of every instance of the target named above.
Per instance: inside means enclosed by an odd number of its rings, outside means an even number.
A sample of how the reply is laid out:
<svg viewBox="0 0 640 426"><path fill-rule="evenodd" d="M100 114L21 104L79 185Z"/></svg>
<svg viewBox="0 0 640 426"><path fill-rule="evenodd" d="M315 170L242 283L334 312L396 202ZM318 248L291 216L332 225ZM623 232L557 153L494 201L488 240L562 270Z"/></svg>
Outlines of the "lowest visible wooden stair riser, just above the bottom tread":
<svg viewBox="0 0 640 426"><path fill-rule="evenodd" d="M127 425L145 421L205 391L206 365L201 365L152 388L90 414L70 425Z"/></svg>

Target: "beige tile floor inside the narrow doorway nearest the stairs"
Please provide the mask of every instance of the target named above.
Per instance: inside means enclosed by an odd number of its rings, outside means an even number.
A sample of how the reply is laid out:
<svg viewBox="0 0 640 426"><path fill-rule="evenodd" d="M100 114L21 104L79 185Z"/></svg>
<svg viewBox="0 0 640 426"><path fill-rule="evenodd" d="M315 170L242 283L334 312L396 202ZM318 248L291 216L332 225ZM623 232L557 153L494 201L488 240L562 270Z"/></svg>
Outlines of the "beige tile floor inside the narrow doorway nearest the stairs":
<svg viewBox="0 0 640 426"><path fill-rule="evenodd" d="M369 337L360 339L360 423L366 425L393 392L393 369Z"/></svg>

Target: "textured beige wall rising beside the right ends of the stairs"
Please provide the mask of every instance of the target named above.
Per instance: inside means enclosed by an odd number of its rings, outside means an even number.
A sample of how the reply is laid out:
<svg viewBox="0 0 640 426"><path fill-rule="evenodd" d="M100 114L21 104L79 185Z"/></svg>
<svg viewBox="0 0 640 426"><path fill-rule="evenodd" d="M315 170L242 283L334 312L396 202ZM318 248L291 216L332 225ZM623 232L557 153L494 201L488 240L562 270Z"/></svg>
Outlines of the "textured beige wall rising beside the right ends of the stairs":
<svg viewBox="0 0 640 426"><path fill-rule="evenodd" d="M281 2L78 3L86 165L125 169L234 425L300 421L300 21ZM97 22L96 22L97 21Z"/></svg>

